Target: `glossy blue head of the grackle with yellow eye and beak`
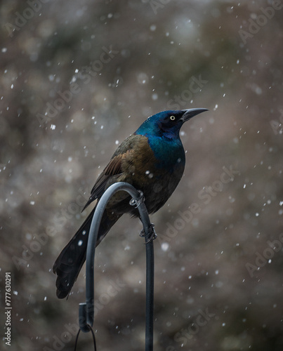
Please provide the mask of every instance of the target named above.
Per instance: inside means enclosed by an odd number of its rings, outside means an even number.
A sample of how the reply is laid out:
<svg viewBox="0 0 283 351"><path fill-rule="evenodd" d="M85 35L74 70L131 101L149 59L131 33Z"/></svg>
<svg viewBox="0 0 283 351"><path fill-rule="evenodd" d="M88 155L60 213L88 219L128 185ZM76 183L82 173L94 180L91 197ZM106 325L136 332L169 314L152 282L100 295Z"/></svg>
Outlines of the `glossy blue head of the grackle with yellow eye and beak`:
<svg viewBox="0 0 283 351"><path fill-rule="evenodd" d="M178 138L180 127L197 114L208 111L204 108L163 111L148 117L135 134Z"/></svg>

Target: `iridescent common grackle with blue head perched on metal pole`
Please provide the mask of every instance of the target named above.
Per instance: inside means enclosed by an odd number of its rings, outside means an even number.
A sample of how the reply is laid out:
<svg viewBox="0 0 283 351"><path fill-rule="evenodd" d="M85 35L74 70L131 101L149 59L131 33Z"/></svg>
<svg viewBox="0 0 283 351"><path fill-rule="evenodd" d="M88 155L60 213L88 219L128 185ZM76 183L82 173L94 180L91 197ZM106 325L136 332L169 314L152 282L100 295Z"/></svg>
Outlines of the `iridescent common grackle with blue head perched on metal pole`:
<svg viewBox="0 0 283 351"><path fill-rule="evenodd" d="M86 206L100 199L113 183L127 182L141 190L148 213L154 213L171 197L183 176L185 152L180 140L180 127L185 121L207 109L164 111L148 117L138 130L124 140L114 152L109 164L96 180ZM119 191L107 204L98 232L98 242L124 214L139 216L137 208L129 204L131 197ZM84 208L86 208L84 206ZM65 298L77 279L86 260L86 246L93 208L53 265L57 274L58 298Z"/></svg>

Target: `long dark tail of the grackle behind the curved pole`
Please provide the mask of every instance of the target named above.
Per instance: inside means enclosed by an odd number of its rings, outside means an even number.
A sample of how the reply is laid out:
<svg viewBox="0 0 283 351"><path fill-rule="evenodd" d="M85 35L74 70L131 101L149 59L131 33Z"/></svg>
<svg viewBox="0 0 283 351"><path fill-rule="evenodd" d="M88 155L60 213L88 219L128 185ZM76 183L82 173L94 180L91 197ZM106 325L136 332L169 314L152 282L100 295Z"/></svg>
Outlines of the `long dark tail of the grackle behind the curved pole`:
<svg viewBox="0 0 283 351"><path fill-rule="evenodd" d="M56 294L58 298L65 298L69 295L74 282L77 280L81 267L84 265L84 261L86 260L88 234L91 228L91 220L95 210L96 207L93 208L79 230L76 232L76 234L74 234L74 237L72 237L65 248L62 249L62 252L58 256L57 260L55 260L53 272L57 274ZM121 215L113 215L107 210L103 213L96 246L120 217Z"/></svg>

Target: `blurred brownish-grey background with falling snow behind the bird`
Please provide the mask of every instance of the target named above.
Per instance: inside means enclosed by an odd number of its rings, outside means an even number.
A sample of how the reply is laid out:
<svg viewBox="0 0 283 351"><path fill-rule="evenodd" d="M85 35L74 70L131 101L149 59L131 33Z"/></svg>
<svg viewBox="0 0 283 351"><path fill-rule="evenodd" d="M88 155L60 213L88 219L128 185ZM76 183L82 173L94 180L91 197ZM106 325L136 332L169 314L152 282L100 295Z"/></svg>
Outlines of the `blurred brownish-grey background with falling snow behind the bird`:
<svg viewBox="0 0 283 351"><path fill-rule="evenodd" d="M282 350L283 4L1 1L1 350L74 350L52 266L117 145L151 114L185 124L185 174L151 216L154 351ZM144 350L145 246L124 216L98 246L98 350ZM11 346L5 280L11 272ZM90 334L78 350L92 350Z"/></svg>

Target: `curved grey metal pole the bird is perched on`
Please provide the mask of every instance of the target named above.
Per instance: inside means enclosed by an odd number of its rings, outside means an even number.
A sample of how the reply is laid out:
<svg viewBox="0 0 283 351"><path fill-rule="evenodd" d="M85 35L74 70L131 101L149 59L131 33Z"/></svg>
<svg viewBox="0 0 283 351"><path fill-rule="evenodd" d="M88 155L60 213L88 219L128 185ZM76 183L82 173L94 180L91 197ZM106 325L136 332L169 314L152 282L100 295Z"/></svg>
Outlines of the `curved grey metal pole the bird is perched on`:
<svg viewBox="0 0 283 351"><path fill-rule="evenodd" d="M86 303L79 304L79 327L81 331L87 333L94 321L94 257L96 252L96 241L100 221L105 211L107 202L115 192L124 190L128 192L136 204L140 213L140 220L143 223L143 232L145 234L146 248L146 319L145 319L145 351L153 350L153 298L154 298L154 251L152 243L152 233L154 233L153 225L147 213L144 203L143 194L138 192L133 185L129 183L114 183L105 190L100 198L96 211L91 221L91 229L88 237L88 245L86 249Z"/></svg>

